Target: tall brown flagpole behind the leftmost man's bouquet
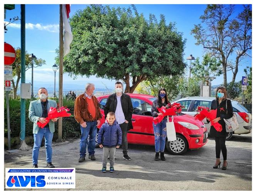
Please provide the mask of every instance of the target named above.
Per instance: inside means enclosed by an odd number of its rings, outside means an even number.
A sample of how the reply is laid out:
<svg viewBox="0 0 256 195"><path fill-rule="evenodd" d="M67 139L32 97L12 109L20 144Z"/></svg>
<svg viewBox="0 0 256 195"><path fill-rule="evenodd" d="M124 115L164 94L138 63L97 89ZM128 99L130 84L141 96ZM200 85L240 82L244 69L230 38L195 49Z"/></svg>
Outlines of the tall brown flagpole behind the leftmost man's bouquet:
<svg viewBox="0 0 256 195"><path fill-rule="evenodd" d="M59 5L59 107L62 107L62 82L63 82L63 21L62 21L62 4ZM58 139L62 140L62 117L58 119Z"/></svg>

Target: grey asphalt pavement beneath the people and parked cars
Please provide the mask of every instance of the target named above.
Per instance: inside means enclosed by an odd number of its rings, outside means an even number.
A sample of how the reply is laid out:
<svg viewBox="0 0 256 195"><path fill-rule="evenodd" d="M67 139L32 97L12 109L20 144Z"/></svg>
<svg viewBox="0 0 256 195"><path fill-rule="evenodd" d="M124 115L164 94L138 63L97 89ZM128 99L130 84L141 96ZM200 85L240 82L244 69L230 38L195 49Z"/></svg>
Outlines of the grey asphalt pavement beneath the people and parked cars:
<svg viewBox="0 0 256 195"><path fill-rule="evenodd" d="M167 154L166 161L154 161L154 146L129 145L131 161L124 160L118 149L115 173L101 173L101 148L96 148L96 161L86 156L86 161L79 163L79 139L76 139L53 147L53 164L76 168L76 189L69 190L252 190L251 134L234 135L226 145L226 171L212 168L215 142L211 137L203 148L183 156ZM32 150L5 154L5 167L31 167L31 158ZM45 148L42 147L39 168L44 167Z"/></svg>

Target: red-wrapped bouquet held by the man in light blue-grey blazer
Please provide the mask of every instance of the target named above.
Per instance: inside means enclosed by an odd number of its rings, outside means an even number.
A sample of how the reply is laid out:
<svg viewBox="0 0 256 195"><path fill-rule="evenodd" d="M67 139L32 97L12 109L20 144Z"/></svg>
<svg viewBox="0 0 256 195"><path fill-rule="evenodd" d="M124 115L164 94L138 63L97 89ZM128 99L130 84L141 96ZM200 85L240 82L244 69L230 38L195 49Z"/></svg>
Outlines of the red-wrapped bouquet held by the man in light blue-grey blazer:
<svg viewBox="0 0 256 195"><path fill-rule="evenodd" d="M40 128L44 128L49 123L49 121L53 118L69 117L69 116L71 116L71 113L67 113L68 111L69 111L69 109L64 106L62 106L61 108L58 108L58 109L51 107L49 109L48 116L45 118L45 120L47 122L46 123L37 122L37 125Z"/></svg>

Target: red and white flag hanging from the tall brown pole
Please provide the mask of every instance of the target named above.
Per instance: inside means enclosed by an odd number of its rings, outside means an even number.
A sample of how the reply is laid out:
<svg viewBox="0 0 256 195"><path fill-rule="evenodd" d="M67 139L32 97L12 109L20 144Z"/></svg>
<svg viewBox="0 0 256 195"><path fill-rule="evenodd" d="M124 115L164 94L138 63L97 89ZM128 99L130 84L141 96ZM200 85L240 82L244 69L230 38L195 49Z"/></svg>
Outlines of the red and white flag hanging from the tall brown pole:
<svg viewBox="0 0 256 195"><path fill-rule="evenodd" d="M70 51L69 45L73 40L73 35L71 32L71 27L69 25L69 13L70 13L70 5L63 4L62 5L62 20L63 20L63 29L64 29L64 55L67 55Z"/></svg>

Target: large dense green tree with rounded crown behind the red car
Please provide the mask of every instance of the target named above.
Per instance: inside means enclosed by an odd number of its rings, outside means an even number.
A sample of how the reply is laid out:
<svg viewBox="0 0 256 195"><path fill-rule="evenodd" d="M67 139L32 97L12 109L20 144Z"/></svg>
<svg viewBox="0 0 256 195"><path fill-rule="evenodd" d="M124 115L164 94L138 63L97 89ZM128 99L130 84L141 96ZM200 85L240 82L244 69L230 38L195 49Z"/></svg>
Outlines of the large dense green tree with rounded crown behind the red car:
<svg viewBox="0 0 256 195"><path fill-rule="evenodd" d="M64 57L64 71L71 76L123 80L125 92L152 76L175 76L185 64L185 40L164 15L146 20L132 8L91 5L70 18L73 41ZM130 84L131 81L131 84Z"/></svg>

